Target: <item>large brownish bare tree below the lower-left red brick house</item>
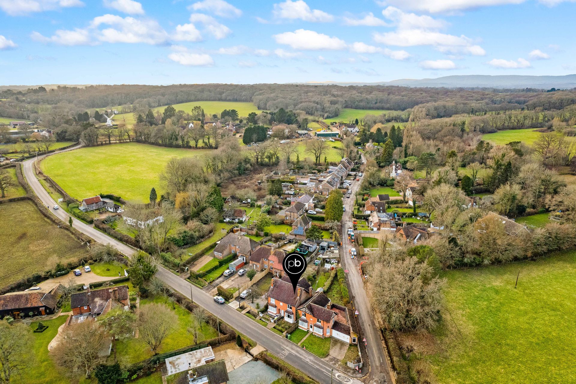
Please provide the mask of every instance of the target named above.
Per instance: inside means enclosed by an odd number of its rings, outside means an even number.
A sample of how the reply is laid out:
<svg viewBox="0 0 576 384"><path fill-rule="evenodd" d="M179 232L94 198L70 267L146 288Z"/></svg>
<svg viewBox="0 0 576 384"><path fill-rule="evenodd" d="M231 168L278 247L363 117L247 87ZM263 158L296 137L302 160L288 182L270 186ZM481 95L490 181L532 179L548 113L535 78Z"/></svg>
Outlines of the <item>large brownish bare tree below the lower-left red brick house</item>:
<svg viewBox="0 0 576 384"><path fill-rule="evenodd" d="M86 378L105 358L100 351L110 339L97 322L85 321L71 324L62 331L60 342L52 349L52 355L59 366L70 374L84 370Z"/></svg>

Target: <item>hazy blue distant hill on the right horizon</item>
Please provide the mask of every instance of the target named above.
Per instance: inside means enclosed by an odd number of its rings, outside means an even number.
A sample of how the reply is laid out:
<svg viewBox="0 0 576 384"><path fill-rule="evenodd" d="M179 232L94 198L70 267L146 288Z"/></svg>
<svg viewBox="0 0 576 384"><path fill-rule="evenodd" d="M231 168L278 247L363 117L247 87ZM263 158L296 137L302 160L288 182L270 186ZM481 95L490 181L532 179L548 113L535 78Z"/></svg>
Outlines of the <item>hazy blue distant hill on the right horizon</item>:
<svg viewBox="0 0 576 384"><path fill-rule="evenodd" d="M431 86L446 88L576 88L576 74L564 76L521 76L521 75L454 75L438 78L410 79L403 78L380 82L308 82L306 84L336 85L398 85L398 86Z"/></svg>

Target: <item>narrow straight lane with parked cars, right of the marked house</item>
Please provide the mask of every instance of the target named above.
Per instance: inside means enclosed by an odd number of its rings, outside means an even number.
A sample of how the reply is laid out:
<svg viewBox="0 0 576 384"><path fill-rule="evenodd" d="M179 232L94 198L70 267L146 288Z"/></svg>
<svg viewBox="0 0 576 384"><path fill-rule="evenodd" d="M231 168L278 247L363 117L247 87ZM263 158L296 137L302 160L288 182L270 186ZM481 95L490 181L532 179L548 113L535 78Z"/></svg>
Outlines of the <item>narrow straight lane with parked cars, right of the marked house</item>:
<svg viewBox="0 0 576 384"><path fill-rule="evenodd" d="M363 159L363 156L362 156ZM363 159L365 161L365 159ZM363 176L362 176L363 178ZM359 323L362 327L364 337L366 338L366 351L368 353L368 360L370 361L370 383L380 383L386 379L387 383L392 383L390 377L390 370L388 364L388 356L382 347L382 340L380 337L380 330L374 323L372 317L372 310L370 303L366 296L366 290L362 281L362 276L358 270L359 263L362 261L355 257L352 259L348 250L353 248L350 240L348 240L347 228L352 227L352 213L354 212L354 198L362 183L362 178L359 181L354 181L350 186L352 191L351 197L344 197L344 206L346 212L342 216L342 247L340 247L340 260L342 267L348 270L348 284L350 285L351 299L354 300L355 310L358 311ZM358 340L362 342L362 340Z"/></svg>

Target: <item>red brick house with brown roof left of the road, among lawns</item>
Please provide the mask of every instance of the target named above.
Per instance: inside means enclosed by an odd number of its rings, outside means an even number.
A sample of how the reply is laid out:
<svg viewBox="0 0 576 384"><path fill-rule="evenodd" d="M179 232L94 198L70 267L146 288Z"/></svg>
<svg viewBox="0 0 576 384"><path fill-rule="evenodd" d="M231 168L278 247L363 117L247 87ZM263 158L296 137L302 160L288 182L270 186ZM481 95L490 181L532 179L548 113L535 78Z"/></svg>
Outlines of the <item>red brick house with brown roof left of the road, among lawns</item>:
<svg viewBox="0 0 576 384"><path fill-rule="evenodd" d="M90 314L92 317L107 313L112 304L121 304L125 310L130 307L128 285L119 287L88 289L70 295L70 308L74 316Z"/></svg>

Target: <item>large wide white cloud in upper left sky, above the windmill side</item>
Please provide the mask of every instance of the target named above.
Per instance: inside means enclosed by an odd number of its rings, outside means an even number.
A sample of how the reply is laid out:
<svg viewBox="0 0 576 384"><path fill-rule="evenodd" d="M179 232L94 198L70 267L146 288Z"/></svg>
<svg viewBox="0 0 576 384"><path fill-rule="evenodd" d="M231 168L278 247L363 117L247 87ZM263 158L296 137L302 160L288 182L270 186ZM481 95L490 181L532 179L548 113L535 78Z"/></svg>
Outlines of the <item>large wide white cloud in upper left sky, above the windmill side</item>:
<svg viewBox="0 0 576 384"><path fill-rule="evenodd" d="M92 28L100 25L111 25L98 32L98 40L107 43L145 43L163 44L169 39L168 33L160 27L156 20L139 20L134 17L120 17L113 14L94 17L90 24Z"/></svg>

